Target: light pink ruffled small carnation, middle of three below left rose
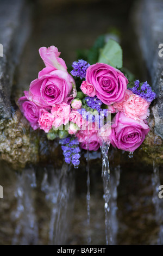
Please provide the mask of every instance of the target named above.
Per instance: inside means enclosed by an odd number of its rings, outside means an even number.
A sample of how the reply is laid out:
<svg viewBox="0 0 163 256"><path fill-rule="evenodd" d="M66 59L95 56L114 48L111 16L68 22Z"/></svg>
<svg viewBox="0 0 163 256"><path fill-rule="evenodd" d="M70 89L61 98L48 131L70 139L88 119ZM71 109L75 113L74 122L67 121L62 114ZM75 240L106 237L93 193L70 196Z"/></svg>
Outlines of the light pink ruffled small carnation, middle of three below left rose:
<svg viewBox="0 0 163 256"><path fill-rule="evenodd" d="M69 115L71 112L71 107L65 102L62 102L59 105L52 107L51 113L54 115L53 125L55 128L59 127L61 124L66 125L69 121Z"/></svg>

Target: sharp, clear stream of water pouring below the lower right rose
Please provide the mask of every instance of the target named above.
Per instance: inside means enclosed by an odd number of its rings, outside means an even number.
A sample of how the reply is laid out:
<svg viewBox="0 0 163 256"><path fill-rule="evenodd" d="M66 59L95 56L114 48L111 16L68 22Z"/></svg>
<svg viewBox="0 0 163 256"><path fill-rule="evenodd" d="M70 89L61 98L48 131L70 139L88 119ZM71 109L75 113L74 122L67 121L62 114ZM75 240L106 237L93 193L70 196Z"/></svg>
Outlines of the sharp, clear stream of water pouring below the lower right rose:
<svg viewBox="0 0 163 256"><path fill-rule="evenodd" d="M110 183L110 169L108 160L108 150L110 143L103 142L101 145L102 153L102 178L104 186L104 200L105 200L105 235L106 245L112 245L112 228L111 228L111 183Z"/></svg>

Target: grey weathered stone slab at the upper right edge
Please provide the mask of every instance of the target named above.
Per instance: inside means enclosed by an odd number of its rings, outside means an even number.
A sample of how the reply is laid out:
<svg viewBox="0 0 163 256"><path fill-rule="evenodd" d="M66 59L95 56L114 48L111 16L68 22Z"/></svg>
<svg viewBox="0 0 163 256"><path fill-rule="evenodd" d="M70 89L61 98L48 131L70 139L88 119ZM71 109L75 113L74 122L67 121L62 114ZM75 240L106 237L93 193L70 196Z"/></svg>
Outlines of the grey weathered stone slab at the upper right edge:
<svg viewBox="0 0 163 256"><path fill-rule="evenodd" d="M151 75L152 87L157 94L156 104L152 109L155 133L163 139L163 57L159 57L159 44L163 44L163 2L142 0L134 11L142 56Z"/></svg>

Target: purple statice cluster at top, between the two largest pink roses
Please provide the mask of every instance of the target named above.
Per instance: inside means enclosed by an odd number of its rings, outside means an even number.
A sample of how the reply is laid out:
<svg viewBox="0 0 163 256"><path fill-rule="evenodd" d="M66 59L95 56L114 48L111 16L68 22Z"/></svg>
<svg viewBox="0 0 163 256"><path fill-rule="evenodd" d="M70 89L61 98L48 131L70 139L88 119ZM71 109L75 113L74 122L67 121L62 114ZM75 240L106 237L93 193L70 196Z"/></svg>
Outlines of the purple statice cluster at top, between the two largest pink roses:
<svg viewBox="0 0 163 256"><path fill-rule="evenodd" d="M86 70L90 66L89 63L87 63L83 59L79 59L78 62L72 63L73 70L71 71L72 76L80 77L80 79L85 78L86 76Z"/></svg>

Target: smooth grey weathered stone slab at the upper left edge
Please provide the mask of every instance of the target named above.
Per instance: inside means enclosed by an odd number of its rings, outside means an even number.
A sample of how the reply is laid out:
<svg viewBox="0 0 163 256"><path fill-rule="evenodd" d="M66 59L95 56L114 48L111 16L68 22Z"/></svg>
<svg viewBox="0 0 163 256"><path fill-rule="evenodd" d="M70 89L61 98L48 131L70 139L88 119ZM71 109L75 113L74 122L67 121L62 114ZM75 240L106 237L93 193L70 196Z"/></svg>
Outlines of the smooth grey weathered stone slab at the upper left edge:
<svg viewBox="0 0 163 256"><path fill-rule="evenodd" d="M11 117L10 94L14 71L30 31L30 8L24 0L0 3L0 118Z"/></svg>

